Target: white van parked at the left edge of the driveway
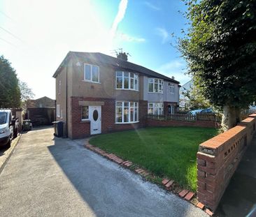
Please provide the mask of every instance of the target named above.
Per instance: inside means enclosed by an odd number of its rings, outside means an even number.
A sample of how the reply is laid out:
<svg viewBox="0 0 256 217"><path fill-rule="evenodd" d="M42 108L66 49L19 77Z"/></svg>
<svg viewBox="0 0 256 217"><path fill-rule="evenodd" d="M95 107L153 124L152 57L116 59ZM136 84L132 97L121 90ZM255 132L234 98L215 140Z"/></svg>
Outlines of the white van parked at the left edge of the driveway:
<svg viewBox="0 0 256 217"><path fill-rule="evenodd" d="M0 110L0 146L10 147L13 139L13 121L10 110Z"/></svg>

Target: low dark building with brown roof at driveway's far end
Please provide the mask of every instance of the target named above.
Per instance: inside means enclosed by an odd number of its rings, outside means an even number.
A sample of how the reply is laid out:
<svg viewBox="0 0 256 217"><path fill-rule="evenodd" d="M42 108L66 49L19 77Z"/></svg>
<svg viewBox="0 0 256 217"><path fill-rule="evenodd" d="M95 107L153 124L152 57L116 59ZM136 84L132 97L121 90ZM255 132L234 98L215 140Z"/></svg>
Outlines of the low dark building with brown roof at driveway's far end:
<svg viewBox="0 0 256 217"><path fill-rule="evenodd" d="M31 119L33 126L52 124L55 121L55 100L44 96L27 100L25 119Z"/></svg>

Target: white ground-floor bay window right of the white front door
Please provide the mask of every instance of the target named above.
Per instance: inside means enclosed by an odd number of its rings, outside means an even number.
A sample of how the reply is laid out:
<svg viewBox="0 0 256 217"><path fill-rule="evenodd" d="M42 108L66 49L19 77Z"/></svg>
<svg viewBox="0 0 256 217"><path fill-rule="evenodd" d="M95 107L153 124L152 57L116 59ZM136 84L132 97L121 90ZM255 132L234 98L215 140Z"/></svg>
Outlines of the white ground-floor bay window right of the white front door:
<svg viewBox="0 0 256 217"><path fill-rule="evenodd" d="M117 101L115 103L115 123L138 122L138 103Z"/></svg>

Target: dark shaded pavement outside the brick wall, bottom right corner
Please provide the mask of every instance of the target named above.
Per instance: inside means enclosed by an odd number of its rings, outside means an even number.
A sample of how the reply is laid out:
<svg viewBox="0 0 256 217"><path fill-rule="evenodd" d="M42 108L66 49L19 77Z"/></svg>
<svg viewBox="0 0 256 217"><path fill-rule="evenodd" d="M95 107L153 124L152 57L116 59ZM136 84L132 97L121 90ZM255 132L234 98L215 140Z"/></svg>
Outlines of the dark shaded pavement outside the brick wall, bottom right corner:
<svg viewBox="0 0 256 217"><path fill-rule="evenodd" d="M215 216L256 216L256 137L239 163Z"/></svg>

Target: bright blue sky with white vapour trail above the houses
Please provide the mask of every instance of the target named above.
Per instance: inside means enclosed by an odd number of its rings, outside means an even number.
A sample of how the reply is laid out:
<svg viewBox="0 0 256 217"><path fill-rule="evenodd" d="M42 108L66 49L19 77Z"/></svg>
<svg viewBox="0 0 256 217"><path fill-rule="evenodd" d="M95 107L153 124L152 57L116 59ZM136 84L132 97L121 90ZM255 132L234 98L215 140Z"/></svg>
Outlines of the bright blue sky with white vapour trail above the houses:
<svg viewBox="0 0 256 217"><path fill-rule="evenodd" d="M0 54L35 98L55 98L52 75L69 50L114 55L122 48L129 61L185 84L185 61L170 45L171 33L185 27L178 10L185 10L179 0L0 0Z"/></svg>

